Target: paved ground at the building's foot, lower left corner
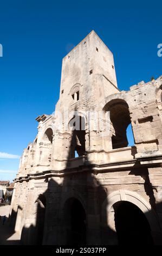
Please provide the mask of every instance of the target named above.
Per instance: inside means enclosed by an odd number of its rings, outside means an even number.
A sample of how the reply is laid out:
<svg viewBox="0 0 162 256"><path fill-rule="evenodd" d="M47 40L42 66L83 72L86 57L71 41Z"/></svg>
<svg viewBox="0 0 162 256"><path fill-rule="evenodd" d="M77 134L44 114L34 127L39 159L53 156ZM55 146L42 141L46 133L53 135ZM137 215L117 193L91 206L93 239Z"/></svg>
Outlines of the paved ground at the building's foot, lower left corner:
<svg viewBox="0 0 162 256"><path fill-rule="evenodd" d="M0 206L0 245L20 245L20 235L9 227L8 216L10 205ZM3 225L3 216L6 216L6 221Z"/></svg>

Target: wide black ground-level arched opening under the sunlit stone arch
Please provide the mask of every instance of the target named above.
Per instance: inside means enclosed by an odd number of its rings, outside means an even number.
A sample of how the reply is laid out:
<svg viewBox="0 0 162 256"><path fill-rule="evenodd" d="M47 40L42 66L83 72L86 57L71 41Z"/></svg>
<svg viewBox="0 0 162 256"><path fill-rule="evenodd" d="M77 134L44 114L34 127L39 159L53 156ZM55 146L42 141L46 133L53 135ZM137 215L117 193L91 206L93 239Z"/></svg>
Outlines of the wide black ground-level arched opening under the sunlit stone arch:
<svg viewBox="0 0 162 256"><path fill-rule="evenodd" d="M113 208L119 245L153 245L150 224L136 205L120 201Z"/></svg>

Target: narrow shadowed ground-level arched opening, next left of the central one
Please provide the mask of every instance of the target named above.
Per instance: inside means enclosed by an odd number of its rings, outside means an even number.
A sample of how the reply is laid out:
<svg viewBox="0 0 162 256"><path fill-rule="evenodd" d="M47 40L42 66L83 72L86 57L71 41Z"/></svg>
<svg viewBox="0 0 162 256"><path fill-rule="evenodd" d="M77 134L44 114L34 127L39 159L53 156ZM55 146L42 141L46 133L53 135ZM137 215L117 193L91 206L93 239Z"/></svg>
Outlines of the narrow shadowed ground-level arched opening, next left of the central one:
<svg viewBox="0 0 162 256"><path fill-rule="evenodd" d="M45 213L46 213L46 197L43 194L40 194L35 203L37 203L37 220L36 220L37 243L36 244L42 245L44 220L45 220Z"/></svg>

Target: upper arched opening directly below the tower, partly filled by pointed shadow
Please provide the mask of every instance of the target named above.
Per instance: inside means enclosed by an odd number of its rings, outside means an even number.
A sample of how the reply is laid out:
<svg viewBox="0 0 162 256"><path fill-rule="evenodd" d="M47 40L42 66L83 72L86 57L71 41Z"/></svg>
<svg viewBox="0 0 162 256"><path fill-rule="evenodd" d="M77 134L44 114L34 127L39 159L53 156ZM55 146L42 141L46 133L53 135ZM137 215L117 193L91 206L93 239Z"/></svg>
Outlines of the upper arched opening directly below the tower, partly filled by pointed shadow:
<svg viewBox="0 0 162 256"><path fill-rule="evenodd" d="M78 157L85 154L85 118L77 115L69 122L69 127L72 129L72 141L70 145L70 157Z"/></svg>

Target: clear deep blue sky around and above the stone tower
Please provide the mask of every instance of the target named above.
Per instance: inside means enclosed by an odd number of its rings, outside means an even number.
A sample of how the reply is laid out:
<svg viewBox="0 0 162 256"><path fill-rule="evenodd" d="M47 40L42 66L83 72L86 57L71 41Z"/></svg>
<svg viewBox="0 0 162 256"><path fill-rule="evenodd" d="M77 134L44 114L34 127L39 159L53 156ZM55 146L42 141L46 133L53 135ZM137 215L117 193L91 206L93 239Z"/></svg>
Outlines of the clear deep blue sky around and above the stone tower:
<svg viewBox="0 0 162 256"><path fill-rule="evenodd" d="M35 118L59 99L62 58L92 29L114 53L121 90L162 74L160 1L112 2L1 1L0 179L15 178L12 155L33 141Z"/></svg>

